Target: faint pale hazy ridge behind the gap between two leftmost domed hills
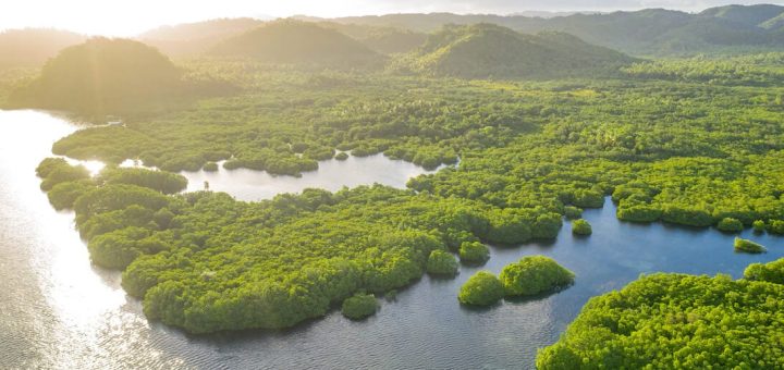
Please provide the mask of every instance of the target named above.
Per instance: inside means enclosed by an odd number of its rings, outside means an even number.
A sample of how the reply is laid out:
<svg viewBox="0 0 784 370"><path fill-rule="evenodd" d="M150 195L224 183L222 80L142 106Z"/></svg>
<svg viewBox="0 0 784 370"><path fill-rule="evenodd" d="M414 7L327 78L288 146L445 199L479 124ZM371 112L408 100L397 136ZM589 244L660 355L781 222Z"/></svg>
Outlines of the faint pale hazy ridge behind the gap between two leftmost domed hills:
<svg viewBox="0 0 784 370"><path fill-rule="evenodd" d="M261 26L257 18L220 18L148 30L137 38L169 55L200 54L218 42Z"/></svg>

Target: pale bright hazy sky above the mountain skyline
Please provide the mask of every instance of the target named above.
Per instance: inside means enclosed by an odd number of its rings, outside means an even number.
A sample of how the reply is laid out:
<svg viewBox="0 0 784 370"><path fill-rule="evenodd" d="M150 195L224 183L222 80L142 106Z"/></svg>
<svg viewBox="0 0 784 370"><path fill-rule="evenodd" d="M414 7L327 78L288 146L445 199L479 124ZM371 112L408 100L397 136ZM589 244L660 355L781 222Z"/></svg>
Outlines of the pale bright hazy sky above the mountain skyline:
<svg viewBox="0 0 784 370"><path fill-rule="evenodd" d="M698 12L747 0L3 0L0 29L52 27L88 35L133 36L161 25L216 17L295 14L335 17L388 13L615 11L665 8ZM784 0L767 3L784 4Z"/></svg>

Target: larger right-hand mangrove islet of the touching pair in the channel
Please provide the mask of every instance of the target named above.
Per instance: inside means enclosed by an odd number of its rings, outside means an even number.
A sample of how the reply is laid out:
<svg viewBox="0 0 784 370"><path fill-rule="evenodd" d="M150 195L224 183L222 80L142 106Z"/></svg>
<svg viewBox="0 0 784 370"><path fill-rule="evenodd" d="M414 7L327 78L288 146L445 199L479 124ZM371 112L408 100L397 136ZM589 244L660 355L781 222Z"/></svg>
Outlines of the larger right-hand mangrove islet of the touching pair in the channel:
<svg viewBox="0 0 784 370"><path fill-rule="evenodd" d="M544 256L523 257L501 271L499 280L509 297L551 293L574 282L574 273Z"/></svg>

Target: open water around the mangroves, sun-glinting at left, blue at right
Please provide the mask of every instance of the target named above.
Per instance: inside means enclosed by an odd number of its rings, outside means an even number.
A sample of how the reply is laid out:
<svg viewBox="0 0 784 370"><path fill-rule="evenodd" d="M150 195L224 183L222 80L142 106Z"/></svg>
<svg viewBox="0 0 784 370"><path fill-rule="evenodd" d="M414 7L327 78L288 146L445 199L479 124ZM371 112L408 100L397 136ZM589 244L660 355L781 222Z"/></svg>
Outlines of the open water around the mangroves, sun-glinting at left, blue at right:
<svg viewBox="0 0 784 370"><path fill-rule="evenodd" d="M744 233L768 246L769 254L737 255L733 235L620 223L608 202L585 213L593 225L588 238L573 237L566 224L551 245L492 248L485 267L464 267L454 280L425 276L364 322L331 312L284 332L193 337L147 322L139 303L120 288L119 274L89 264L72 214L54 212L38 190L35 165L53 140L73 130L47 114L0 111L0 368L531 368L537 348L553 343L588 298L640 273L738 278L748 263L784 256L784 239L768 235ZM392 161L375 165L389 166L381 173L407 171ZM487 310L457 304L460 285L475 271L498 273L535 254L572 269L576 284Z"/></svg>

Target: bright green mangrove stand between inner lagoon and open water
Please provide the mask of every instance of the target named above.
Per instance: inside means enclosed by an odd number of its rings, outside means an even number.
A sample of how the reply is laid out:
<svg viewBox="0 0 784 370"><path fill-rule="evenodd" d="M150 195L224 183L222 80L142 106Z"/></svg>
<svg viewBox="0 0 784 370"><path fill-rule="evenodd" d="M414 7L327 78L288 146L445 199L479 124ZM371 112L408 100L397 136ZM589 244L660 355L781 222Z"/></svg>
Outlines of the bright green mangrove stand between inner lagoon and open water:
<svg viewBox="0 0 784 370"><path fill-rule="evenodd" d="M44 182L58 166L70 168L41 163ZM180 182L159 175L175 176L108 168L58 183L49 195L75 211L93 261L124 270L123 287L144 298L149 318L196 333L291 326L356 292L381 294L429 266L456 267L445 250L510 223L531 235L552 227L536 213L510 219L483 202L383 186L308 189L258 203L205 192L167 196Z"/></svg>

